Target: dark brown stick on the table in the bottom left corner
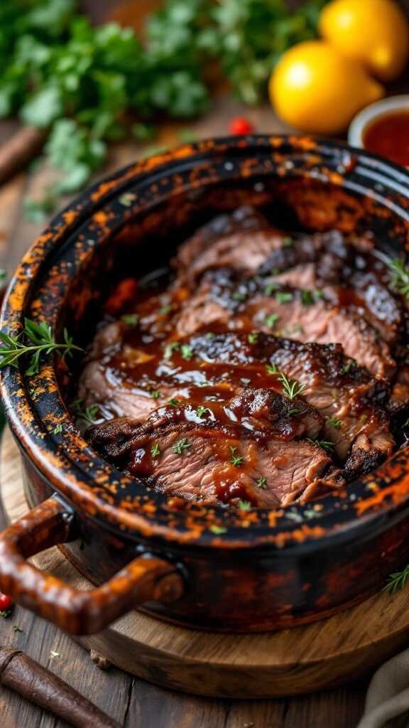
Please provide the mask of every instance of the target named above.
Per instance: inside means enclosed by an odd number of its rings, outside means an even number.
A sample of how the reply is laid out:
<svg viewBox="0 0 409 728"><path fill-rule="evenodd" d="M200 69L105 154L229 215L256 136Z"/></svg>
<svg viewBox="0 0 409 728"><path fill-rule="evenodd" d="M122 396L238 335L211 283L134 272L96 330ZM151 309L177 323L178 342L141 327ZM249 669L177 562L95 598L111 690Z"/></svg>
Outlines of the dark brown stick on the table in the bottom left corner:
<svg viewBox="0 0 409 728"><path fill-rule="evenodd" d="M0 683L77 728L119 728L90 700L20 650L0 648Z"/></svg>

